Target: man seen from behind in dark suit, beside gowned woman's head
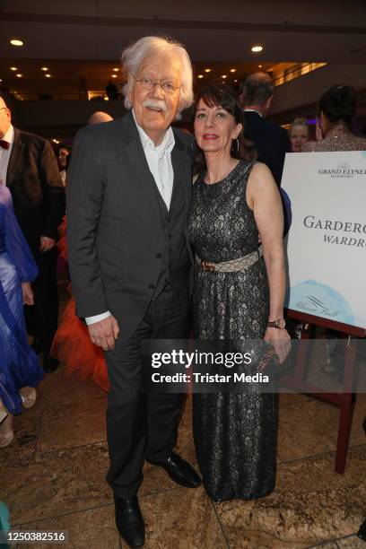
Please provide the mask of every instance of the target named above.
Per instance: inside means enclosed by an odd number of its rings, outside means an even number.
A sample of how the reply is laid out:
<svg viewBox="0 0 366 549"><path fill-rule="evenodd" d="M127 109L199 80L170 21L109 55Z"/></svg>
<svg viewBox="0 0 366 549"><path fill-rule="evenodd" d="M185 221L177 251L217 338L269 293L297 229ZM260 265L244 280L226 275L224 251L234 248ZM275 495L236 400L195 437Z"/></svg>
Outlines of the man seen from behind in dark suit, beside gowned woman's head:
<svg viewBox="0 0 366 549"><path fill-rule="evenodd" d="M244 132L257 149L258 161L271 170L280 187L284 156L291 151L289 135L281 126L266 120L274 96L274 83L269 74L249 74L240 84L240 101L244 107Z"/></svg>

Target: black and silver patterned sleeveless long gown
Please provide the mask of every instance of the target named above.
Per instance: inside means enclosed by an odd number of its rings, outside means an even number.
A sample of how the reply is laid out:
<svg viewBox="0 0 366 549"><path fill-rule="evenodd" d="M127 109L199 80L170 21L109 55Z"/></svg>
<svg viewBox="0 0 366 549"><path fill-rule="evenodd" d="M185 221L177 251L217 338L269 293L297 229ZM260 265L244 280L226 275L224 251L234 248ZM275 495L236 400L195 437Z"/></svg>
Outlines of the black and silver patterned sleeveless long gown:
<svg viewBox="0 0 366 549"><path fill-rule="evenodd" d="M220 263L258 247L258 231L246 201L253 162L240 161L214 185L199 177L194 185L189 237L196 255ZM269 292L263 257L236 273L207 272L196 266L197 339L262 339ZM215 501L256 499L274 489L277 403L259 394L194 396L194 438L205 490Z"/></svg>

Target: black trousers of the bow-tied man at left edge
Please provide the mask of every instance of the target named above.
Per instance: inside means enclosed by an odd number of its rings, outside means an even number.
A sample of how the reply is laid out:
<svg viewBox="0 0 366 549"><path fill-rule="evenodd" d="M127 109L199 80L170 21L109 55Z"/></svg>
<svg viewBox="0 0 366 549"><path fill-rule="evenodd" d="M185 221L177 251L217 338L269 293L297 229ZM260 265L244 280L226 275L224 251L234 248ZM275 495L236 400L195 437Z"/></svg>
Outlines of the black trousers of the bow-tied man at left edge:
<svg viewBox="0 0 366 549"><path fill-rule="evenodd" d="M24 308L27 330L39 339L42 349L49 351L57 330L57 250L34 254L39 275L32 284L34 305Z"/></svg>

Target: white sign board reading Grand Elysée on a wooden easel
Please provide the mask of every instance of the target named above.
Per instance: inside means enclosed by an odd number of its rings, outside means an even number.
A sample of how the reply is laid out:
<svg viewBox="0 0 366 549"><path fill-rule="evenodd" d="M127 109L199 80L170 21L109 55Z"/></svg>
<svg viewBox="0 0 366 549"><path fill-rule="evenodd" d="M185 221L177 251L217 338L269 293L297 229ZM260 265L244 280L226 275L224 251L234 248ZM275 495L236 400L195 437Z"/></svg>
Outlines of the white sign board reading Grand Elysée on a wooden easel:
<svg viewBox="0 0 366 549"><path fill-rule="evenodd" d="M288 153L285 306L366 328L366 152Z"/></svg>

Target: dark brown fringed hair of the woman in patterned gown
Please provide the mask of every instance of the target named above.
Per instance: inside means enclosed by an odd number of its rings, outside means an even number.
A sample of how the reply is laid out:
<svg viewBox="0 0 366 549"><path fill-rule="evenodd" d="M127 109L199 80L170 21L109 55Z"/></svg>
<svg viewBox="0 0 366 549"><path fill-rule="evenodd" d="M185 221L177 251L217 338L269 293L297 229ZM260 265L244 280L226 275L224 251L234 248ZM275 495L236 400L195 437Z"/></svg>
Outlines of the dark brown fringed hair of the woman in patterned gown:
<svg viewBox="0 0 366 549"><path fill-rule="evenodd" d="M239 147L236 143L231 145L231 156L238 160L254 160L257 158L256 150L253 144L248 141L244 136L244 117L243 111L240 106L240 102L237 99L236 93L228 84L212 83L205 86L197 93L195 103L195 117L196 109L200 100L203 100L207 107L221 107L221 109L229 112L235 119L237 124L242 124L243 129L238 136ZM196 142L195 142L196 143ZM205 154L196 145L196 157L194 163L194 173L199 173L201 170L205 170Z"/></svg>

